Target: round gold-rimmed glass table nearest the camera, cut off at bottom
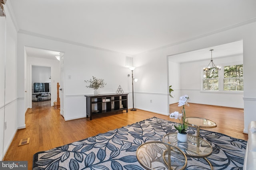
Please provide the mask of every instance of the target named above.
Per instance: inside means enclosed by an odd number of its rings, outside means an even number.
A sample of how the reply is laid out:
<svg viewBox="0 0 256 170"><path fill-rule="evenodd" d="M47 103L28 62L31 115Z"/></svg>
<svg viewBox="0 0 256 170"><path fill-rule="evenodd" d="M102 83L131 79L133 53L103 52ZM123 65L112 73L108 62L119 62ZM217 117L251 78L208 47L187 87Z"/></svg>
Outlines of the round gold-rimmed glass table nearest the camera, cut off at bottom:
<svg viewBox="0 0 256 170"><path fill-rule="evenodd" d="M148 170L184 170L187 157L178 147L160 141L146 142L136 151L138 162Z"/></svg>

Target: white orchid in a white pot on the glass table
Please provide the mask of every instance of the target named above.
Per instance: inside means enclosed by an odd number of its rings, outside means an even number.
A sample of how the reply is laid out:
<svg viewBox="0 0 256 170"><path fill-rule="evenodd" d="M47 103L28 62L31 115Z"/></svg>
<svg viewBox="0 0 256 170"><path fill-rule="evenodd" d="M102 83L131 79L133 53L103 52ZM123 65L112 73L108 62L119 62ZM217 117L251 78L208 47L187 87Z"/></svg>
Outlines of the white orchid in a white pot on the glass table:
<svg viewBox="0 0 256 170"><path fill-rule="evenodd" d="M188 104L188 95L184 95L180 97L178 106L182 106L181 112L179 113L178 111L174 111L173 113L170 114L170 118L174 119L179 119L180 120L180 125L174 125L175 129L178 130L177 138L181 142L187 142L188 141L188 133L186 132L188 129L188 123L185 122L186 119L186 111L185 111L185 105L189 106Z"/></svg>

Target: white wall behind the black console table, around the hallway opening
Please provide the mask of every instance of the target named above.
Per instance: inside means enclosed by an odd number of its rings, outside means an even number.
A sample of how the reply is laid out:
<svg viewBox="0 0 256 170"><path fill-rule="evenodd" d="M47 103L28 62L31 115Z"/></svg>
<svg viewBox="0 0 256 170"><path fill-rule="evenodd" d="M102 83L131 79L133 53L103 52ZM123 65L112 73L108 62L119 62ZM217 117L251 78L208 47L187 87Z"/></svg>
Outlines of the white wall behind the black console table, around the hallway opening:
<svg viewBox="0 0 256 170"><path fill-rule="evenodd" d="M131 74L131 72L129 68L125 67L125 54L92 49L65 42L53 41L43 37L18 33L19 63L24 63L25 61L24 47L26 46L51 51L61 51L64 53L65 120L86 117L86 98L84 95L93 94L93 90L85 87L86 83L84 80L89 80L92 76L103 78L107 83L104 89L100 89L100 93L114 93L119 85L122 86L124 92L131 91L131 78L127 76L128 74ZM30 60L30 57L28 57L28 64L32 63ZM34 60L37 60L34 62L42 63L39 59ZM23 81L24 70L21 66L19 66L18 69L20 70L20 72L18 72L18 79L19 81ZM28 69L28 66L26 69ZM51 80L53 79L52 75ZM55 85L52 84L52 87L54 86ZM22 87L19 88L20 92L18 92L18 95L24 97L24 93L21 92ZM54 92L52 92L52 94L54 94ZM130 98L131 94L129 95L129 101ZM28 99L25 100L27 101ZM131 103L129 103L129 107L132 107ZM23 120L24 115L22 113L18 114L23 116L21 119ZM20 124L22 124L22 121Z"/></svg>

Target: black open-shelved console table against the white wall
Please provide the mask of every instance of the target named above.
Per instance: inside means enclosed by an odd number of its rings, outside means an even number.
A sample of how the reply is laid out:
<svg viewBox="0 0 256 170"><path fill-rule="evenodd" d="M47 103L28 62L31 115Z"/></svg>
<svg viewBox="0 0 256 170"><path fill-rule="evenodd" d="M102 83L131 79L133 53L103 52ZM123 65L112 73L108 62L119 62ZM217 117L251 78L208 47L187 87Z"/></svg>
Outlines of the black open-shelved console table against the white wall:
<svg viewBox="0 0 256 170"><path fill-rule="evenodd" d="M128 112L128 93L126 94L100 94L98 96L86 95L86 117L111 113L114 111Z"/></svg>

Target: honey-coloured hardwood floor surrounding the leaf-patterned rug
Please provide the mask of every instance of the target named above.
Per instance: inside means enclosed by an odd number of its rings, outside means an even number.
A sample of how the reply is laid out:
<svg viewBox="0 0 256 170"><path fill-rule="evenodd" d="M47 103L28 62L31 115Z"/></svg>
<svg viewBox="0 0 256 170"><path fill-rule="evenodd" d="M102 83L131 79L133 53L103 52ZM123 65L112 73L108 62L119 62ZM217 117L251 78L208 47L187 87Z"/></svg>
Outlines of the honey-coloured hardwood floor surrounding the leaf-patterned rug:
<svg viewBox="0 0 256 170"><path fill-rule="evenodd" d="M25 116L26 129L17 131L4 157L4 160L27 160L29 170L32 169L33 155L39 151L86 139L98 133L105 133L154 116L178 122L169 116L142 110L98 115L92 117L91 121L90 118L64 121L60 110L50 107L50 101L32 103L32 109L28 109ZM173 111L180 111L178 104L170 105L170 113ZM224 133L239 139L248 139L248 136L243 134L243 109L190 104L190 107L186 106L186 117L210 119L218 126L206 130ZM27 137L30 137L30 143L18 147L20 139Z"/></svg>

